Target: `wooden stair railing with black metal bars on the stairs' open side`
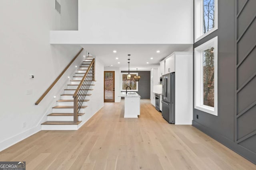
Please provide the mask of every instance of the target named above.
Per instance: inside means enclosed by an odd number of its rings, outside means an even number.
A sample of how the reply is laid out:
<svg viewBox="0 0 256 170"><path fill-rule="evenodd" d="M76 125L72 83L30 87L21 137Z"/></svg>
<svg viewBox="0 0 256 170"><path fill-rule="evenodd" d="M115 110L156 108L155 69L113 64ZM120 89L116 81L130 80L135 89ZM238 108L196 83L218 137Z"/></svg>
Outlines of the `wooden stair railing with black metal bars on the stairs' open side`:
<svg viewBox="0 0 256 170"><path fill-rule="evenodd" d="M84 102L84 99L88 93L92 81L94 81L94 72L95 72L95 59L92 59L91 64L86 70L80 84L78 85L76 92L73 95L74 98L74 123L78 121L78 113L81 109L81 106Z"/></svg>

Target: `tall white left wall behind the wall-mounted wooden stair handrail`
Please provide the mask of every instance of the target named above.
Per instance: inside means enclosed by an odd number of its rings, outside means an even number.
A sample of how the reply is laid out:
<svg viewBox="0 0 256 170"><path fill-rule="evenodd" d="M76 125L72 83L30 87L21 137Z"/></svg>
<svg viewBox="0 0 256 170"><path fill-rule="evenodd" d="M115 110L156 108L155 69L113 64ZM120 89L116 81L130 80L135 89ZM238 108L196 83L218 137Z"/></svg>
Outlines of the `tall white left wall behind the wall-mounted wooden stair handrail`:
<svg viewBox="0 0 256 170"><path fill-rule="evenodd" d="M38 98L81 47L49 44L50 30L60 29L61 20L65 20L55 11L54 0L0 1L0 11L2 150L41 129L40 123L46 120L46 114L58 100L53 96L59 97L67 76L74 72L74 66L80 63L83 54L42 102L35 106ZM29 74L34 74L34 80L29 79ZM33 94L26 95L27 89L33 90ZM23 127L24 123L26 127Z"/></svg>

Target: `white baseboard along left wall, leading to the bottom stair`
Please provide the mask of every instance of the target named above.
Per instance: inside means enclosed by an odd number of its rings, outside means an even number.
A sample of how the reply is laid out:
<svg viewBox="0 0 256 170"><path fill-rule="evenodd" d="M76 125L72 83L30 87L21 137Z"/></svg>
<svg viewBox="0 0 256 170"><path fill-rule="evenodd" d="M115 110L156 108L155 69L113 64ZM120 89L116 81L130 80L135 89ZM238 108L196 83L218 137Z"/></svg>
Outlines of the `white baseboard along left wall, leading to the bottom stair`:
<svg viewBox="0 0 256 170"><path fill-rule="evenodd" d="M22 133L19 133L17 135L14 135L13 137L10 137L4 141L0 142L0 152L11 147L12 145L15 145L16 143L19 143L20 141L38 133L41 131L41 125L37 125L36 127L32 127Z"/></svg>

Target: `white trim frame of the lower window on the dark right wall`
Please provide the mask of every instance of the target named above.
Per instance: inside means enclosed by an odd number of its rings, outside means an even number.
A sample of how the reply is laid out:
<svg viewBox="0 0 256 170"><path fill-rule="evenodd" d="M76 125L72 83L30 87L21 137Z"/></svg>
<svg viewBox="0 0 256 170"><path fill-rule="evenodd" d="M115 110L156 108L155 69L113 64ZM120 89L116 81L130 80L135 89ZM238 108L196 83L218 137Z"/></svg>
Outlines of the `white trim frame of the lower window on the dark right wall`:
<svg viewBox="0 0 256 170"><path fill-rule="evenodd" d="M203 104L203 51L214 47L214 107ZM194 49L194 108L218 116L218 36Z"/></svg>

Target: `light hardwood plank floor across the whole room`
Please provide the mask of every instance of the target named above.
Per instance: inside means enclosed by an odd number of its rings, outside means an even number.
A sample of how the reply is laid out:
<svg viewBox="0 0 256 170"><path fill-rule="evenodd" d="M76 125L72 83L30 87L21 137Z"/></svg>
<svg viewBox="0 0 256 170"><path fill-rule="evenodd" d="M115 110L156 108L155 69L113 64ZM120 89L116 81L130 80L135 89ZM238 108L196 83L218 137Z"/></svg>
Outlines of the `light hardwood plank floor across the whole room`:
<svg viewBox="0 0 256 170"><path fill-rule="evenodd" d="M140 118L123 117L124 101L105 103L78 131L40 131L0 161L26 161L27 170L256 169L191 125L167 123L150 100L141 100Z"/></svg>

